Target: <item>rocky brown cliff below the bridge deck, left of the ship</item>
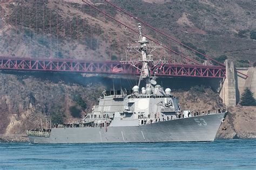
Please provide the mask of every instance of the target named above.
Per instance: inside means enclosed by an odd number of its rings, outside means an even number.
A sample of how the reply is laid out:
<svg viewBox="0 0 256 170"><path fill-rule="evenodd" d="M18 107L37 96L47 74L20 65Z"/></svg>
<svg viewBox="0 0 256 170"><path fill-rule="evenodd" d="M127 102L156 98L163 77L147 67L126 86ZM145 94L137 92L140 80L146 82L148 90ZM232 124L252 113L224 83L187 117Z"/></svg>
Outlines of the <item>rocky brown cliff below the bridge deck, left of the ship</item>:
<svg viewBox="0 0 256 170"><path fill-rule="evenodd" d="M52 123L78 120L91 110L104 87L71 75L0 73L0 79L0 134L24 134L41 126L40 119L44 125L46 118Z"/></svg>

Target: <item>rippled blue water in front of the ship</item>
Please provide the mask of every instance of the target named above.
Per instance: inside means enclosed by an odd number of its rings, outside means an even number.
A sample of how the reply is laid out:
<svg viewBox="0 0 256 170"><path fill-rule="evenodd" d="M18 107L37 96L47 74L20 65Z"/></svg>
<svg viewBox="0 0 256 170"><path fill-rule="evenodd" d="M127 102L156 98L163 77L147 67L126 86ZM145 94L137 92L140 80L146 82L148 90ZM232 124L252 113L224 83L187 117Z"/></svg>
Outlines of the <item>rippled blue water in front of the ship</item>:
<svg viewBox="0 0 256 170"><path fill-rule="evenodd" d="M256 140L0 143L0 169L256 169Z"/></svg>

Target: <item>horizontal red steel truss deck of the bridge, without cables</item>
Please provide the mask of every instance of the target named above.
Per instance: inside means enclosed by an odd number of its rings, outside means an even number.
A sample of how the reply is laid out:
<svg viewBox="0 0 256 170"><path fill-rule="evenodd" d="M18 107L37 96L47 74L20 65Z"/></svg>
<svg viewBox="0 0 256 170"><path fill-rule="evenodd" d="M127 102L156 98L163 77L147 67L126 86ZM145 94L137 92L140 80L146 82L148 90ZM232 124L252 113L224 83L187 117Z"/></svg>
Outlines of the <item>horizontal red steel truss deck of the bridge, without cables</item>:
<svg viewBox="0 0 256 170"><path fill-rule="evenodd" d="M22 72L74 72L90 74L136 74L139 69L129 64L122 64L123 72L112 73L112 68L119 65L119 61L89 61L76 59L32 59L11 56L0 56L1 70L16 70ZM141 68L139 63L136 65ZM152 69L152 75L155 69ZM226 68L221 66L182 65L167 63L156 72L158 77L186 76L186 77L225 77Z"/></svg>

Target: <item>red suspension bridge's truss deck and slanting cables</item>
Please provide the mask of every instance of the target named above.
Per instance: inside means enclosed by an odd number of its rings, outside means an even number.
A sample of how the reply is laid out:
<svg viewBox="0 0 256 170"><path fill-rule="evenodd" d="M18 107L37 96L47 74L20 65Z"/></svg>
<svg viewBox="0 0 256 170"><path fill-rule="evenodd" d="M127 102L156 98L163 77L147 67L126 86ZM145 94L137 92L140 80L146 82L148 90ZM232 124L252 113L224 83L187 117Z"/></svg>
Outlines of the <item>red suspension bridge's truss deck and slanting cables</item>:
<svg viewBox="0 0 256 170"><path fill-rule="evenodd" d="M125 26L127 29L130 29L131 31L135 33L139 33L136 29L133 29L131 26L124 24L123 22L120 22L116 18L108 15L105 10L98 9L95 5L88 3L87 1L82 0L86 5L90 6L91 9L96 10L99 13L102 13L104 16L114 20L120 25ZM7 1L0 1L0 3L4 3ZM131 13L124 11L123 9L119 8L119 6L111 3L110 1L105 1L107 4L110 4L120 12L125 13L125 15L129 16L132 19L137 20L137 22L140 22L144 24L147 27L150 27L153 31L160 33L162 36L166 37L167 39L170 39L174 41L176 44L179 44L182 47L186 47L187 49L190 49L194 53L198 53L205 57L205 59L211 60L213 63L217 63L219 66L204 66L201 65L198 61L185 56L185 54L176 52L173 49L164 46L167 51L170 51L176 55L181 56L181 58L184 58L186 61L190 61L190 64L181 65L178 63L168 63L166 64L163 69L157 70L156 76L162 76L162 77L170 77L170 76L187 76L187 77L225 77L226 76L226 70L225 65L223 63L220 63L214 59L212 59L210 56L207 56L203 53L198 52L196 49L193 49L183 43L181 43L179 40L176 40L167 34L159 31L158 29L154 28L153 26L143 22L142 20L138 19L137 17L131 15ZM51 16L51 15L50 15ZM17 22L17 19L16 19ZM50 24L51 25L51 24ZM156 44L160 45L161 43L154 40L153 38L143 35L147 39L155 42ZM191 64L193 63L193 65ZM33 59L33 58L19 58L19 57L13 57L13 56L0 56L0 69L4 70L17 70L17 71L32 71L32 72L38 72L38 71L48 71L48 72L74 72L74 73L91 73L91 74L113 74L112 68L116 65L120 64L118 61L86 61L86 60L76 60L76 59ZM122 65L123 72L114 73L114 74L137 74L139 75L139 69L134 69L130 65ZM137 65L138 68L140 68L140 65ZM152 73L154 74L154 73ZM241 73L242 74L242 73ZM246 75L245 75L246 76Z"/></svg>

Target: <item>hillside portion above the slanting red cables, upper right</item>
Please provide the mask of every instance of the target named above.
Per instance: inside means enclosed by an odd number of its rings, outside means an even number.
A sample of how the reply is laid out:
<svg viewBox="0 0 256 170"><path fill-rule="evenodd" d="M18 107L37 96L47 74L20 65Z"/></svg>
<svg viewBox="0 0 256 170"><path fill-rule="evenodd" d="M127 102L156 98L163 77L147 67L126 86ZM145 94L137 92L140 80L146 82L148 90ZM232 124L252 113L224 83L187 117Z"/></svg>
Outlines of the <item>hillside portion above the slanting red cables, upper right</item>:
<svg viewBox="0 0 256 170"><path fill-rule="evenodd" d="M256 61L256 41L250 39L250 32L256 28L255 1L113 2L213 58L226 55L237 66L245 66L248 61L244 60Z"/></svg>

